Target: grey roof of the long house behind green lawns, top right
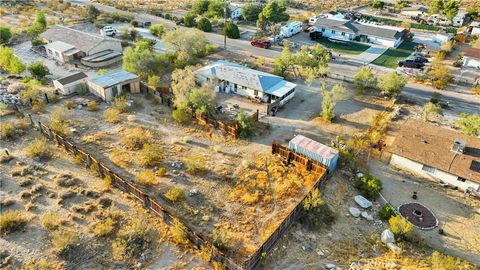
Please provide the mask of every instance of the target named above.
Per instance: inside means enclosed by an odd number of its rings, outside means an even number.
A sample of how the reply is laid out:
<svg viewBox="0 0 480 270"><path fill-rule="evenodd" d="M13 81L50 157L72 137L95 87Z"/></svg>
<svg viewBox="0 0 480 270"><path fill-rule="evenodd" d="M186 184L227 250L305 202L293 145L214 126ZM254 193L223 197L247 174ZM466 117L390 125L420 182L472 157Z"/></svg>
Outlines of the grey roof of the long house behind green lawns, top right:
<svg viewBox="0 0 480 270"><path fill-rule="evenodd" d="M338 32L364 34L379 38L398 39L403 36L404 30L383 25L361 24L355 21L318 18L316 27L328 28Z"/></svg>

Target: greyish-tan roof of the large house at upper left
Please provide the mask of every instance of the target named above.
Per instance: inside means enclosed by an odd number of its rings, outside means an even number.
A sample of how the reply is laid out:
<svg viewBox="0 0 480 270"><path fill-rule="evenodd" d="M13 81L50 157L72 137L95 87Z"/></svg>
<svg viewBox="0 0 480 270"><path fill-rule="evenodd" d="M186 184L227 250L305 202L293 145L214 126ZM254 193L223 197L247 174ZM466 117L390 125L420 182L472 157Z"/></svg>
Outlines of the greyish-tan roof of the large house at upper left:
<svg viewBox="0 0 480 270"><path fill-rule="evenodd" d="M83 32L61 25L54 25L48 28L45 32L40 34L40 36L51 42L61 41L67 44L71 44L72 46L83 52L90 51L104 40L116 41L112 38Z"/></svg>

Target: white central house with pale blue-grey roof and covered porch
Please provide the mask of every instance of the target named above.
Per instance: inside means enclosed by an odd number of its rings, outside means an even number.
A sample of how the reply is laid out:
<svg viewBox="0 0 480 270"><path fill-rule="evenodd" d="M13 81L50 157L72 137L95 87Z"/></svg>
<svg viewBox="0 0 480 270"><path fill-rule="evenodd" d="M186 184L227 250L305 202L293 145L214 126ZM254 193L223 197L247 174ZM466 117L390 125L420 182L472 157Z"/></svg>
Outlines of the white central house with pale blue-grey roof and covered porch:
<svg viewBox="0 0 480 270"><path fill-rule="evenodd" d="M222 60L200 68L196 74L199 83L211 83L216 92L235 93L279 106L293 98L297 87L280 76Z"/></svg>

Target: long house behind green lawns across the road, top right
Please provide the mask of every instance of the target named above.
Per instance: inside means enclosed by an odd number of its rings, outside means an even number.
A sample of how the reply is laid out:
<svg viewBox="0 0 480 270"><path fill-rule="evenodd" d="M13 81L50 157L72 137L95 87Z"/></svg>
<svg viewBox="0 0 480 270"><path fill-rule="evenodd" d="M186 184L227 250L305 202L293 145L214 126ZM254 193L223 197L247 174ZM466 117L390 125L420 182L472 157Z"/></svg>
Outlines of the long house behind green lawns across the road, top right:
<svg viewBox="0 0 480 270"><path fill-rule="evenodd" d="M338 18L317 18L313 31L334 41L356 41L385 47L398 47L407 31L400 27L360 23Z"/></svg>

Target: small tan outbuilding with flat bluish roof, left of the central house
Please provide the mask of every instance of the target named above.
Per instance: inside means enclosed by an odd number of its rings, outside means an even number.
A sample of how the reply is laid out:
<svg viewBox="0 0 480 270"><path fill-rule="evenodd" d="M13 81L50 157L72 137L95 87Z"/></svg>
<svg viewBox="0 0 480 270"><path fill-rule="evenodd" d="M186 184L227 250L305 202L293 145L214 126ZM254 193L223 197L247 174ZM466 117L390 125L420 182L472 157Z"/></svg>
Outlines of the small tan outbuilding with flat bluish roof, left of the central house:
<svg viewBox="0 0 480 270"><path fill-rule="evenodd" d="M87 81L88 90L110 102L122 93L140 93L140 78L125 70L114 70Z"/></svg>

